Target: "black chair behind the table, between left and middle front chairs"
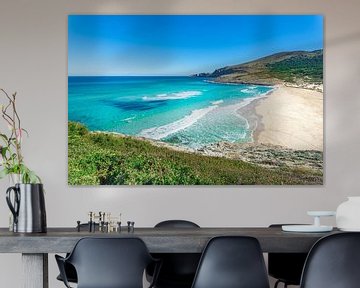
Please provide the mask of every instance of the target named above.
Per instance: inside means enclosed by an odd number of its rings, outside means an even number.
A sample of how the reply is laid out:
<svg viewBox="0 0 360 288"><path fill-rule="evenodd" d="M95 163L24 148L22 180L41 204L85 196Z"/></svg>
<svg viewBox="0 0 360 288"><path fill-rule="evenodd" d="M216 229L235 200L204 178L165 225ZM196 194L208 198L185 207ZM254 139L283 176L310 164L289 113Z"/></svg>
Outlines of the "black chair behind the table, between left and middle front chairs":
<svg viewBox="0 0 360 288"><path fill-rule="evenodd" d="M166 220L155 225L155 228L200 228L199 225L187 220ZM161 259L162 266L159 272L156 288L190 288L194 280L200 253L158 253L152 254ZM152 279L153 267L147 269L147 279Z"/></svg>

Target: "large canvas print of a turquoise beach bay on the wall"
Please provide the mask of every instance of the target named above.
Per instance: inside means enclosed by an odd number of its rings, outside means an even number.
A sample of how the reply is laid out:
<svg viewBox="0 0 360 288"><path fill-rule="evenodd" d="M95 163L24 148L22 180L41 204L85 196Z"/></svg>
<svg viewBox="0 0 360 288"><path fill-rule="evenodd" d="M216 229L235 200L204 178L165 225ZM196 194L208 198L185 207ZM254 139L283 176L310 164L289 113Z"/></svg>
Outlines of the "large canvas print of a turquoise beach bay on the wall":
<svg viewBox="0 0 360 288"><path fill-rule="evenodd" d="M323 17L70 15L70 185L321 185Z"/></svg>

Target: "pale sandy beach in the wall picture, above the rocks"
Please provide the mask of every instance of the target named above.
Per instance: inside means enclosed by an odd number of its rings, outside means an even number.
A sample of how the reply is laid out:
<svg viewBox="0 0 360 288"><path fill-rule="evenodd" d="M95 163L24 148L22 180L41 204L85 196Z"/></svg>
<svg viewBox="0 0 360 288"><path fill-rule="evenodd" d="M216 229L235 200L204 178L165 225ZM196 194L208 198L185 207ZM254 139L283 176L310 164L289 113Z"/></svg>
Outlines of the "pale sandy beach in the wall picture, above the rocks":
<svg viewBox="0 0 360 288"><path fill-rule="evenodd" d="M255 104L255 143L323 150L323 93L278 86Z"/></svg>

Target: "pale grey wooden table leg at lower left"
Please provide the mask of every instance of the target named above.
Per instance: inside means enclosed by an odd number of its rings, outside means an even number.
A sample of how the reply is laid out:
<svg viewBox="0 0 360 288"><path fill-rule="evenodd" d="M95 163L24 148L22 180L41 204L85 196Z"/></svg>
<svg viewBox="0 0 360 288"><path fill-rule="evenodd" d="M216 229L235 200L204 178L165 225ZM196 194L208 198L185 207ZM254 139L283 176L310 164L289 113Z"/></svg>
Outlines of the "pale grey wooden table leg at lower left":
<svg viewBox="0 0 360 288"><path fill-rule="evenodd" d="M48 254L22 254L23 288L49 288Z"/></svg>

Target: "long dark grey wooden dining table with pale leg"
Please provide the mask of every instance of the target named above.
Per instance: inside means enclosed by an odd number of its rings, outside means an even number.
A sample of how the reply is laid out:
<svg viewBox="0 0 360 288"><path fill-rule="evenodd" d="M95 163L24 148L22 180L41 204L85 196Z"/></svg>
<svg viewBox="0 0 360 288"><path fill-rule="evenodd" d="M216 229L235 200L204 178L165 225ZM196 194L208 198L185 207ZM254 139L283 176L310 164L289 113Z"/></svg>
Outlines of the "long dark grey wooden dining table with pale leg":
<svg viewBox="0 0 360 288"><path fill-rule="evenodd" d="M139 237L151 253L201 253L215 236L252 236L262 251L278 253L308 252L321 237L338 233L283 232L281 227L224 228L135 228L119 232L89 232L77 228L48 228L47 233L13 233L0 228L0 253L21 253L24 288L48 288L48 253L67 253L83 237Z"/></svg>

